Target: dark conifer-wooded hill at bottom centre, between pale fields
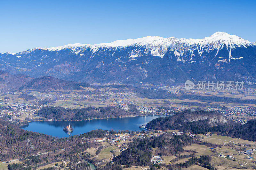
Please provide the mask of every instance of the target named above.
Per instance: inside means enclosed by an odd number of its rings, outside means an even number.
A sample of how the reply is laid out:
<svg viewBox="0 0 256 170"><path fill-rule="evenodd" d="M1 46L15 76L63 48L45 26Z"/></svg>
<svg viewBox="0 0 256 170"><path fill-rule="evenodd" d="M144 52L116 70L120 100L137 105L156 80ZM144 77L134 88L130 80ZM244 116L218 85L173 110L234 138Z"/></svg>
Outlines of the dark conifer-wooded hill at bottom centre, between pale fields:
<svg viewBox="0 0 256 170"><path fill-rule="evenodd" d="M152 166L152 148L156 148L159 156L171 156L183 151L182 147L192 143L192 138L186 135L172 136L164 134L150 140L134 139L129 143L129 148L121 152L114 162L121 165Z"/></svg>

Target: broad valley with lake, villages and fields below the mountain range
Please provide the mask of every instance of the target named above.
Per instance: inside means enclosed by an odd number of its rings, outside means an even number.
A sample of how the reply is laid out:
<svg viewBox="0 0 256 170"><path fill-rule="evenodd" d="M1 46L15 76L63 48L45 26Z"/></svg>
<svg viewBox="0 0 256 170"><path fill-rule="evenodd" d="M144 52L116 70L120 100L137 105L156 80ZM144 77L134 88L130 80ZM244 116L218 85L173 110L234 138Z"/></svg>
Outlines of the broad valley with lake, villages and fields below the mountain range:
<svg viewBox="0 0 256 170"><path fill-rule="evenodd" d="M3 80L12 76L8 73L2 75L5 75ZM4 87L4 83L0 82L0 85ZM29 145L20 144L29 151L19 153L25 156L23 158L24 156L18 156L15 149L11 149L15 144L7 145L6 151L1 153L2 156L8 149L16 156L13 154L13 157L2 158L2 162L9 162L1 163L0 168L10 168L11 165L31 166L33 169L65 170L78 165L92 168L87 164L88 161L99 169L250 169L255 167L254 150L249 157L246 157L243 151L255 147L253 129L246 129L248 123L254 127L251 121L256 117L255 90L254 86L248 85L239 90L186 90L182 84L91 85L54 77L30 78L25 83L18 81L15 90L2 89L0 119L9 122L15 128L28 130L20 129L22 133L31 133L26 140L34 140L30 142L30 147L35 148L30 151L27 148ZM182 117L185 119L181 117L178 119L181 122L177 123L183 124L183 128L177 129L179 126L176 124L152 124L158 121L157 117L179 117L180 114L184 114ZM209 114L210 117L207 116ZM207 124L209 120L212 122ZM175 118L173 121L176 121ZM62 130L67 124L74 128L69 134ZM139 126L143 124L147 124L144 127L152 130L141 129ZM205 128L197 127L200 124ZM241 136L234 130L239 128L247 135ZM95 133L96 129L104 131L99 131L99 134L96 132L92 137L91 134ZM39 149L42 147L41 144L36 144L36 139L33 138L33 135L38 134L36 132L40 132L40 135L50 135L42 136L40 140L52 138L51 140L60 143L57 145L48 141L53 150ZM183 146L176 148L178 150L169 148L171 152L159 149L163 147L160 143L165 143L165 138L172 140L180 138L178 136L190 142L180 144ZM149 139L145 141L149 150L135 147L138 145L137 142L145 139ZM71 140L77 145L74 148L70 143L61 143L62 140ZM136 140L139 141L135 142ZM150 142L152 140L155 140L156 144L158 140L161 142L157 146ZM86 146L78 143L86 143ZM139 159L135 160L137 156L133 153L126 152L129 149L138 149L136 153L139 157L142 156L142 152L149 155L141 158L144 162L140 162ZM135 163L129 163L130 160L125 159L125 154L131 154L129 157L134 158ZM35 160L39 162L33 162Z"/></svg>

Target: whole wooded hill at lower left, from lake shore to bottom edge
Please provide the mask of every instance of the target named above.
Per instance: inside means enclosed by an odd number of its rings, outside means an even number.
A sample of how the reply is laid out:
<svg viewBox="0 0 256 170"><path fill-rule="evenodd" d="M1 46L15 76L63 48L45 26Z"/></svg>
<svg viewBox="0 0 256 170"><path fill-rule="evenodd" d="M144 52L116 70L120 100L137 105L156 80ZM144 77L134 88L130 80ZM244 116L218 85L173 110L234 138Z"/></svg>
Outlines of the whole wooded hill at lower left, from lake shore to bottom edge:
<svg viewBox="0 0 256 170"><path fill-rule="evenodd" d="M116 132L113 131L113 133ZM43 169L43 166L59 162L59 160L68 161L69 169L89 169L86 168L89 167L89 164L85 160L92 161L92 156L84 151L90 147L97 148L100 144L87 142L84 138L104 138L106 136L107 131L99 129L68 138L55 138L25 131L0 119L0 161L19 159L18 163L9 165L8 169L37 169L38 167Z"/></svg>

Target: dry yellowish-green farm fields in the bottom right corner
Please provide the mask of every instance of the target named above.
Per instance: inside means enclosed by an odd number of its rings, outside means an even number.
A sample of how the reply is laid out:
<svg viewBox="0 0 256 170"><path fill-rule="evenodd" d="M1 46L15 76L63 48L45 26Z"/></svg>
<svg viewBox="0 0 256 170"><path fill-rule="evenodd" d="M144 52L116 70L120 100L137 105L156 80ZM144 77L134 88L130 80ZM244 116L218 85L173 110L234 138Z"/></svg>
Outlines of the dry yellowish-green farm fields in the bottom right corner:
<svg viewBox="0 0 256 170"><path fill-rule="evenodd" d="M201 136L201 135L200 135ZM213 151L212 146L204 146L204 145L188 145L184 147L183 149L191 149L196 151L195 155L199 157L200 155L209 155L212 157L211 164L217 168L217 169L244 169L256 166L255 163L255 153L256 151L252 151L254 154L247 156L244 153L239 153L237 149L240 149L244 147L243 145L245 144L250 144L251 147L247 147L247 149L252 149L255 148L255 142L253 141L248 141L248 140L242 140L238 138L231 138L227 136L220 136L213 134L211 136L209 135L204 135L201 136L204 137L202 139L205 142L209 142L212 144L219 144L221 145L221 148L219 147L213 147L215 152ZM238 144L239 143L239 144ZM240 146L242 144L242 146ZM220 155L230 155L230 158L225 158ZM253 157L254 160L249 160L247 159L248 157ZM243 166L241 166L241 165Z"/></svg>

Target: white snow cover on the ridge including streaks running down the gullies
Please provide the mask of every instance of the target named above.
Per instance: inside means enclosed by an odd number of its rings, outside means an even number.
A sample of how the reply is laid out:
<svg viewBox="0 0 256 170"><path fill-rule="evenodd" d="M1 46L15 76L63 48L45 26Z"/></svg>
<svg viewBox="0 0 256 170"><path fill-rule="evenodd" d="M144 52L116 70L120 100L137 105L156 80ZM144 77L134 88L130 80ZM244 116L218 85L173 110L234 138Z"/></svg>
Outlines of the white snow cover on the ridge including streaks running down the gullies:
<svg viewBox="0 0 256 170"><path fill-rule="evenodd" d="M28 54L36 50L48 50L48 51L61 51L69 49L70 52L76 54L83 54L83 51L90 50L91 55L100 49L108 49L112 50L113 55L116 51L126 50L131 47L135 47L132 50L129 50L127 53L127 57L138 57L143 55L152 55L163 57L168 50L173 51L174 55L177 57L178 61L183 61L183 56L188 57L186 54L190 52L189 60L193 60L193 51L196 50L200 55L204 51L213 51L217 49L216 55L219 50L226 47L229 52L228 61L232 59L231 51L237 47L245 47L254 46L255 44L244 40L236 35L229 35L225 32L216 32L212 34L210 37L205 37L204 39L177 39L177 38L162 38L159 36L154 37L143 37L138 39L126 39L126 40L116 40L111 43L101 43L101 44L69 44L65 46L51 47L51 48L35 48L30 49L26 52L18 53L17 55ZM131 54L131 55L129 55ZM91 57L92 57L91 56Z"/></svg>

